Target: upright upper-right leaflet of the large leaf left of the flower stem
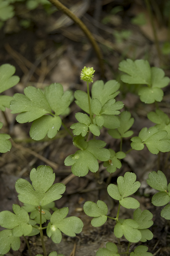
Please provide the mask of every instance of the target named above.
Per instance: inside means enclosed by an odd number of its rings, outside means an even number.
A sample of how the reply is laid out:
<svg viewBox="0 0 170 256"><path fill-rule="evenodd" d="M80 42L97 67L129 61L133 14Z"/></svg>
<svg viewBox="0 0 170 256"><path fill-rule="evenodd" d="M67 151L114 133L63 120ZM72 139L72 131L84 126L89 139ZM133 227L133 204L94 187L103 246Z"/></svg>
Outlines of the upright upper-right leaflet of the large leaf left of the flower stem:
<svg viewBox="0 0 170 256"><path fill-rule="evenodd" d="M63 92L63 86L58 83L50 84L45 88L45 98L55 115L61 115L69 107L71 96L72 92Z"/></svg>

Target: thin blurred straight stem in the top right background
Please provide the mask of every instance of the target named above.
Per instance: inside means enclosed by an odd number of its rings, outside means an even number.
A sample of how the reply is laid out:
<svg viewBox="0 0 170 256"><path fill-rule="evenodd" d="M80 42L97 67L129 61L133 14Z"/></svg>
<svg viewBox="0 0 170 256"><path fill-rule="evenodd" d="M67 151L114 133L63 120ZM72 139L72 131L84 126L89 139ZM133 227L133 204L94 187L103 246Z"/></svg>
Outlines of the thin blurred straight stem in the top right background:
<svg viewBox="0 0 170 256"><path fill-rule="evenodd" d="M149 0L145 0L145 3L146 3L146 8L147 8L147 11L148 11L148 14L149 14L150 23L151 23L151 26L152 26L152 31L153 31L153 34L154 34L155 46L156 46L156 49L157 49L157 54L158 54L158 57L159 57L159 61L161 63L162 62L162 54L161 54L161 49L160 49L159 42L158 42L158 39L157 39L154 19L153 19L153 16L152 16L152 11L151 11L151 8L150 8Z"/></svg>

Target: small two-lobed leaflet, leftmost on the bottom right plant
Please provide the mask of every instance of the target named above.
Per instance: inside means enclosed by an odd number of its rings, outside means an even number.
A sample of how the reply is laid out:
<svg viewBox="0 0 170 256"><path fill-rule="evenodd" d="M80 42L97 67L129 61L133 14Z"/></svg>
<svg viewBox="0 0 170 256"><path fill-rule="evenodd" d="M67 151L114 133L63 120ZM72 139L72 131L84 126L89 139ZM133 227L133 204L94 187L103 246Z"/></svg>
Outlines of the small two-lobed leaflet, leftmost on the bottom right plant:
<svg viewBox="0 0 170 256"><path fill-rule="evenodd" d="M83 206L83 210L88 216L94 217L91 221L91 224L94 227L103 225L107 220L106 214L108 208L103 201L98 200L97 204L92 201L87 201Z"/></svg>

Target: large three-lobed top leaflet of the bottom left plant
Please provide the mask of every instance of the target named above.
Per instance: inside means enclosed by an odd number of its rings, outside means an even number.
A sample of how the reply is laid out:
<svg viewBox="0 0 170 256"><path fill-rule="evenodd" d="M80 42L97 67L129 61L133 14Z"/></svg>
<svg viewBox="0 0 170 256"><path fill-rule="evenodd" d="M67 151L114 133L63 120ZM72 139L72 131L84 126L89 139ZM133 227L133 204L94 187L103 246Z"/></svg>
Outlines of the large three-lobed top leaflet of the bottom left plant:
<svg viewBox="0 0 170 256"><path fill-rule="evenodd" d="M30 172L32 185L25 179L18 179L15 184L16 191L19 193L18 199L30 205L47 205L52 201L60 199L65 191L63 183L55 183L55 174L49 166L38 166Z"/></svg>

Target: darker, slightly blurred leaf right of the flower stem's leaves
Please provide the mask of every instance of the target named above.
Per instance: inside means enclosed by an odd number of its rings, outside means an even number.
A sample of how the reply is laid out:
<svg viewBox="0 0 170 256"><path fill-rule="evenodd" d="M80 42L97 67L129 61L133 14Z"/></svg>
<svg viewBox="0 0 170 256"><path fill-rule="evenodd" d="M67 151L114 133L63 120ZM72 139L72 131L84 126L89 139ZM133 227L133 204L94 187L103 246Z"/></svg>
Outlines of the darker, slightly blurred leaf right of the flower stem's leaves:
<svg viewBox="0 0 170 256"><path fill-rule="evenodd" d="M120 138L126 138L130 137L133 134L133 131L128 131L130 127L132 127L134 123L134 118L131 117L130 112L128 111L123 111L120 114L119 121L120 121L120 126L117 129L111 129L108 131L109 135L115 139L120 139Z"/></svg>

